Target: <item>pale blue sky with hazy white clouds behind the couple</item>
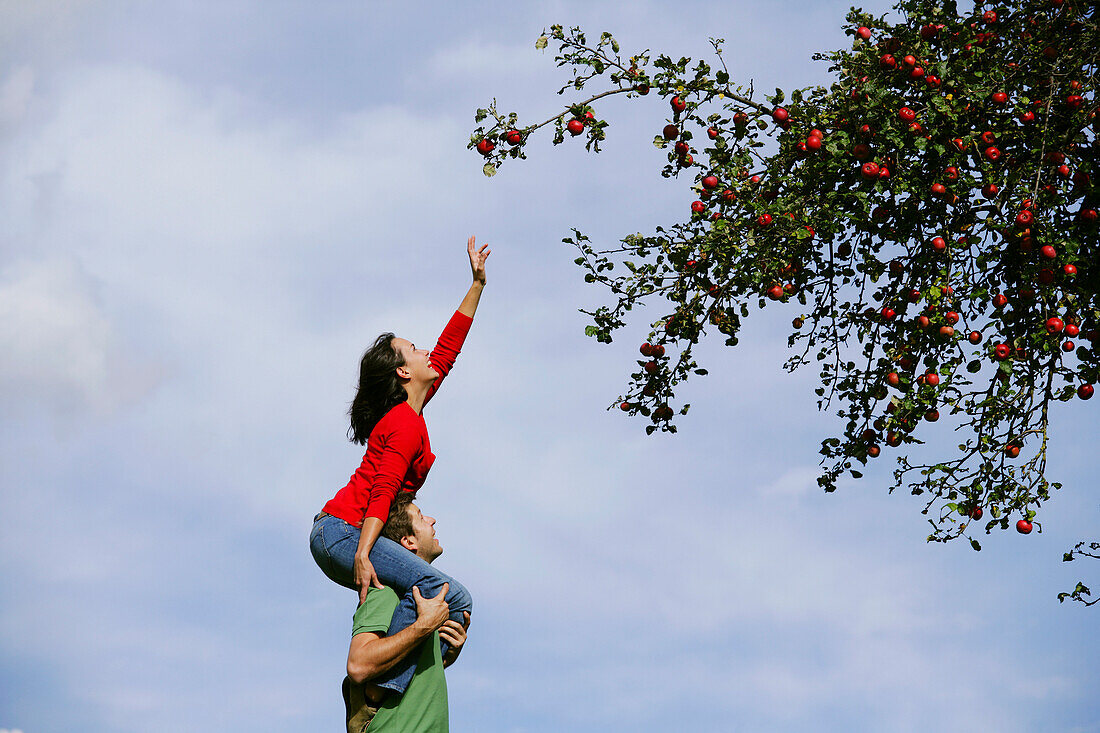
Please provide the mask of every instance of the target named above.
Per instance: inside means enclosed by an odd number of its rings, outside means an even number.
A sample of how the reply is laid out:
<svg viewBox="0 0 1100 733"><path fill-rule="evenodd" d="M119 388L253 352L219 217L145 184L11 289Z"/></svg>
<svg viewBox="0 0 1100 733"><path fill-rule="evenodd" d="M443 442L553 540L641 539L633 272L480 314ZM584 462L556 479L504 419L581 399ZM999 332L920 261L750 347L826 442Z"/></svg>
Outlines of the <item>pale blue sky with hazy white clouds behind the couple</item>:
<svg viewBox="0 0 1100 733"><path fill-rule="evenodd" d="M488 285L419 496L475 603L452 730L1100 731L1100 612L1056 599L1100 586L1060 561L1097 536L1100 403L1057 405L1043 532L981 553L927 544L887 458L817 489L842 425L781 369L793 305L704 344L647 437L605 409L647 318L586 338L605 295L561 239L683 218L667 107L607 101L605 152L492 179L466 150L494 97L565 101L552 23L718 35L769 90L827 78L846 9L0 0L0 731L340 730L355 598L312 517L359 464L359 355L435 340L471 233Z"/></svg>

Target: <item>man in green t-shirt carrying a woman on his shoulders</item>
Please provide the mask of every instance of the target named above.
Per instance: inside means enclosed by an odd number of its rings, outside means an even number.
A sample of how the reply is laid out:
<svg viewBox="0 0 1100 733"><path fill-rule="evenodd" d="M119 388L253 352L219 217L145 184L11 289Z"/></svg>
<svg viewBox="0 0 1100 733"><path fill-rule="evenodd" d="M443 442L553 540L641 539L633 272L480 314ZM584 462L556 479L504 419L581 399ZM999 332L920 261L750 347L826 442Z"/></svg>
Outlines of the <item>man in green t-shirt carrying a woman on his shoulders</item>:
<svg viewBox="0 0 1100 733"><path fill-rule="evenodd" d="M417 557L431 562L443 554L436 539L436 519L425 516L413 503L411 494L400 492L389 510L382 534ZM426 599L413 588L417 620L393 636L386 636L389 621L399 601L391 588L372 588L355 610L351 647L348 650L348 677L343 681L348 733L391 731L446 733L448 731L447 680L449 667L466 641L470 614L464 623L448 617L448 586L436 598ZM440 639L450 648L440 650ZM371 680L389 670L407 655L416 655L417 669L403 696L387 691Z"/></svg>

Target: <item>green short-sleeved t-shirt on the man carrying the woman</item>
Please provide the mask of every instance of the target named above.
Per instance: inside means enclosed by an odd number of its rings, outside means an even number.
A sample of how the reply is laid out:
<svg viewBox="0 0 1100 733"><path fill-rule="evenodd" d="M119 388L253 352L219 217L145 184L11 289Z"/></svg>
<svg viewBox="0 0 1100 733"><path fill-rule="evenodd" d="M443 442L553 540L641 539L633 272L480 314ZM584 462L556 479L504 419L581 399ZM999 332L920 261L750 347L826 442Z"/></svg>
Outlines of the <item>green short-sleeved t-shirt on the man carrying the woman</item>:
<svg viewBox="0 0 1100 733"><path fill-rule="evenodd" d="M355 609L351 635L385 635L397 608L397 593L391 588L372 588L366 600ZM420 643L410 654L417 655L416 674L405 694L386 696L371 721L371 733L447 733L447 679L439 650L439 632Z"/></svg>

